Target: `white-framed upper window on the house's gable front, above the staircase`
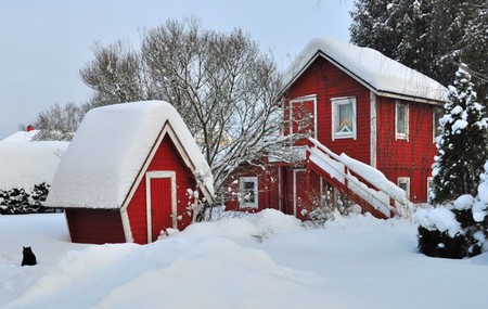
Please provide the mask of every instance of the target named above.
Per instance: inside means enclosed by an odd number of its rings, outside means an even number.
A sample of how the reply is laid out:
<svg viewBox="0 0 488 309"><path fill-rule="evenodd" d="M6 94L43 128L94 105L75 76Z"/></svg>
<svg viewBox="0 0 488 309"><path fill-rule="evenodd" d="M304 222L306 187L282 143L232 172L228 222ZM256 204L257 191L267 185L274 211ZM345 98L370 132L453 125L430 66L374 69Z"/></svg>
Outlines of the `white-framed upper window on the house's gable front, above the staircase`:
<svg viewBox="0 0 488 309"><path fill-rule="evenodd" d="M332 101L332 140L356 139L356 98Z"/></svg>

